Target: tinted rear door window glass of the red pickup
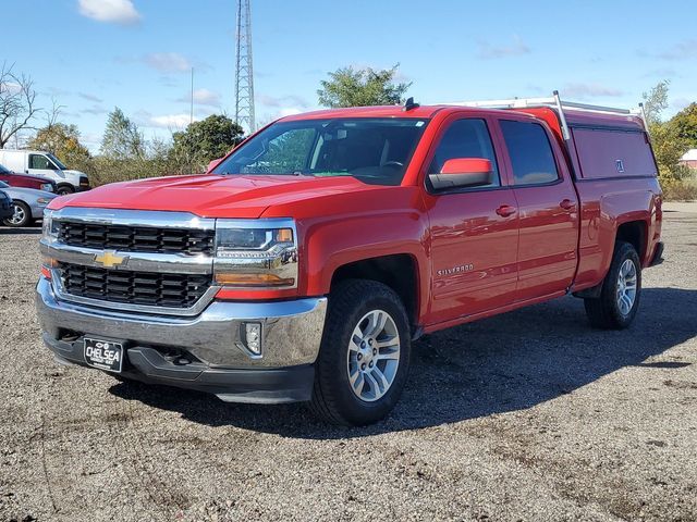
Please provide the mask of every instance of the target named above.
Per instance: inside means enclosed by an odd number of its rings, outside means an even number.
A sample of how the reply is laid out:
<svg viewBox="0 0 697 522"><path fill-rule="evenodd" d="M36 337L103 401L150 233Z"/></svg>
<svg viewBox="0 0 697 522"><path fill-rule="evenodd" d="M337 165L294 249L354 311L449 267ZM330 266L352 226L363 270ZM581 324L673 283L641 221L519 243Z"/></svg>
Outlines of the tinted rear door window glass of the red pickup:
<svg viewBox="0 0 697 522"><path fill-rule="evenodd" d="M559 179L552 147L541 125L511 120L500 123L515 185L538 185Z"/></svg>

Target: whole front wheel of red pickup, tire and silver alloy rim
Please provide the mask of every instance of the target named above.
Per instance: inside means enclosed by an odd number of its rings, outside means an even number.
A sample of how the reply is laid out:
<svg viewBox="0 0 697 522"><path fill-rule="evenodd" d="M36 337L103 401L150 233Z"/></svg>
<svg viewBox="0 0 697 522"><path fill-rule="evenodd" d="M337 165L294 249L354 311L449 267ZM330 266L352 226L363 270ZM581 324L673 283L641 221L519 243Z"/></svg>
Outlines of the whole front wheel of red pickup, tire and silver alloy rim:
<svg viewBox="0 0 697 522"><path fill-rule="evenodd" d="M399 296L374 281L340 283L330 296L313 410L333 424L379 421L400 398L409 352L408 320Z"/></svg>

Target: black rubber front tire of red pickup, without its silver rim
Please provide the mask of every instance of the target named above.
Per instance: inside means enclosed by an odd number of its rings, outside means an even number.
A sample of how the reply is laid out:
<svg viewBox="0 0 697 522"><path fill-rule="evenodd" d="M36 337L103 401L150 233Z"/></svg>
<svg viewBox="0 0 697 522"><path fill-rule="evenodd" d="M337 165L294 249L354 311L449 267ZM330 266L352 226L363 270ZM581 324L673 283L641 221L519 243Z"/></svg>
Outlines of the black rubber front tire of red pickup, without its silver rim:
<svg viewBox="0 0 697 522"><path fill-rule="evenodd" d="M377 400L366 401L354 393L348 380L348 343L354 328L364 324L362 318L376 310L387 312L396 327L399 364L384 395ZM338 284L329 299L322 344L315 364L311 410L327 422L347 426L366 425L383 419L402 394L408 373L409 355L411 335L406 311L390 287L365 279L348 279ZM375 362L376 368L379 364L380 362ZM363 381L366 378L363 377ZM368 385L367 389L370 388Z"/></svg>

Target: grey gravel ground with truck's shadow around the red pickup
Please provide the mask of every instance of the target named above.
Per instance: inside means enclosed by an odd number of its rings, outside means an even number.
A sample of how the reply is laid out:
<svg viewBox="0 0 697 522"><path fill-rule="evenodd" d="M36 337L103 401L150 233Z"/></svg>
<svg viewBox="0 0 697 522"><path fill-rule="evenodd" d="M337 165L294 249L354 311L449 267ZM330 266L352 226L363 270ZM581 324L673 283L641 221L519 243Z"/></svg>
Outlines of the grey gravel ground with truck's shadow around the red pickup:
<svg viewBox="0 0 697 522"><path fill-rule="evenodd" d="M38 231L0 228L0 520L697 520L697 203L634 325L565 298L428 336L390 419L53 363Z"/></svg>

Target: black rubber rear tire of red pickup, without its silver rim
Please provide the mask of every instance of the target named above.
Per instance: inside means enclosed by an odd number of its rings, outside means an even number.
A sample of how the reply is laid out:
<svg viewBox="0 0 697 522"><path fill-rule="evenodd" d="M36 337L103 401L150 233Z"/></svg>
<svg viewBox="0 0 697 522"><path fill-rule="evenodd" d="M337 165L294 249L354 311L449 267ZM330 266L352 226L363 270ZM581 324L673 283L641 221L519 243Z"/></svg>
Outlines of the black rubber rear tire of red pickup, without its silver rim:
<svg viewBox="0 0 697 522"><path fill-rule="evenodd" d="M625 261L632 261L636 270L636 296L628 313L623 313L617 303L617 288L620 278L620 269ZM602 282L600 297L584 299L586 314L592 326L608 330L623 330L632 324L636 311L639 308L641 297L641 263L634 246L617 241L614 246L612 263L608 275Z"/></svg>

